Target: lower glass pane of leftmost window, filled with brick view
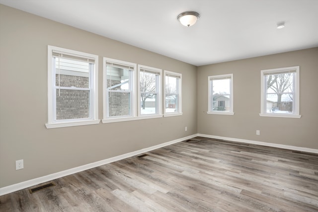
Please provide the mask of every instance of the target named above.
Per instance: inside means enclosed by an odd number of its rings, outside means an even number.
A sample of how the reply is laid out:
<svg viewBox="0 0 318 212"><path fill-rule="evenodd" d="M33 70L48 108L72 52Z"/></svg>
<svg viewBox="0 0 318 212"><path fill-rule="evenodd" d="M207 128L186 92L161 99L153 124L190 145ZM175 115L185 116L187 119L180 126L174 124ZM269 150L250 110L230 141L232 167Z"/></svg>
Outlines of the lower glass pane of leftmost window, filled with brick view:
<svg viewBox="0 0 318 212"><path fill-rule="evenodd" d="M89 118L89 91L56 89L56 120Z"/></svg>

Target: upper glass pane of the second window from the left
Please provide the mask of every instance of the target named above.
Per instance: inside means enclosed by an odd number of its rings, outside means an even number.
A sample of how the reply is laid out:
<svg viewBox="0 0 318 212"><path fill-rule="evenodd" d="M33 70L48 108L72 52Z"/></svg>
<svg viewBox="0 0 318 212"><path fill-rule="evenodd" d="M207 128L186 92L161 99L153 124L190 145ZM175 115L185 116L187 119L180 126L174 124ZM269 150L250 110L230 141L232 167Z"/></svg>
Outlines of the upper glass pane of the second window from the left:
<svg viewBox="0 0 318 212"><path fill-rule="evenodd" d="M108 90L130 90L129 70L107 66L107 89Z"/></svg>

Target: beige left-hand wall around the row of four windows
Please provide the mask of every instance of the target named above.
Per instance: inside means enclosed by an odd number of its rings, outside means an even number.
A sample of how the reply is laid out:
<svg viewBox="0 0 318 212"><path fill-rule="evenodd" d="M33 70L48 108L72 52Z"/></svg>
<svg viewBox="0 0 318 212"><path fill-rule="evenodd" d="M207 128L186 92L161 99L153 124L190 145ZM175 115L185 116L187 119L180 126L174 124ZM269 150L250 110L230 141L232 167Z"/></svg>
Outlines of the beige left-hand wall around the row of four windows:
<svg viewBox="0 0 318 212"><path fill-rule="evenodd" d="M99 55L100 119L102 57L182 73L183 115L46 129L48 45ZM196 69L0 4L0 188L196 134Z"/></svg>

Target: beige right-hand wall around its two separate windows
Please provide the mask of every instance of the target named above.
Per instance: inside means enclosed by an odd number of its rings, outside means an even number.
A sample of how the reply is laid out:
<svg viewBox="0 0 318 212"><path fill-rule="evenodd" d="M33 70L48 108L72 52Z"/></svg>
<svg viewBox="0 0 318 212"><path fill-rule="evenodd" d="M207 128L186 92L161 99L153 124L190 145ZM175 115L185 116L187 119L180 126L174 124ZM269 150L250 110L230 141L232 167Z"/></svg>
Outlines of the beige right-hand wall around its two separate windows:
<svg viewBox="0 0 318 212"><path fill-rule="evenodd" d="M300 119L260 117L260 70L300 66ZM318 149L318 48L198 67L198 133ZM234 116L208 115L208 76L233 73ZM260 130L260 136L256 136Z"/></svg>

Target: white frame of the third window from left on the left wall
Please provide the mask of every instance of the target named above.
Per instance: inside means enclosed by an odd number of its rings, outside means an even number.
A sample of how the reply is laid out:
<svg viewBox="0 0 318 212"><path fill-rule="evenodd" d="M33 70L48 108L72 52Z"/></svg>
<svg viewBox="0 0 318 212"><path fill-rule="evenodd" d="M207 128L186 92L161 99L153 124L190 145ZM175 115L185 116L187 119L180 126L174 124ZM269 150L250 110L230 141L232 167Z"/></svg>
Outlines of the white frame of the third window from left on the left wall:
<svg viewBox="0 0 318 212"><path fill-rule="evenodd" d="M156 77L156 94L157 94L157 113L156 114L141 114L141 89L140 89L140 72L141 71L147 71L150 73L155 73L158 75ZM149 66L143 66L143 65L138 65L138 116L141 119L146 119L146 118L161 118L162 117L162 112L161 112L161 77L162 77L162 70L149 67Z"/></svg>

